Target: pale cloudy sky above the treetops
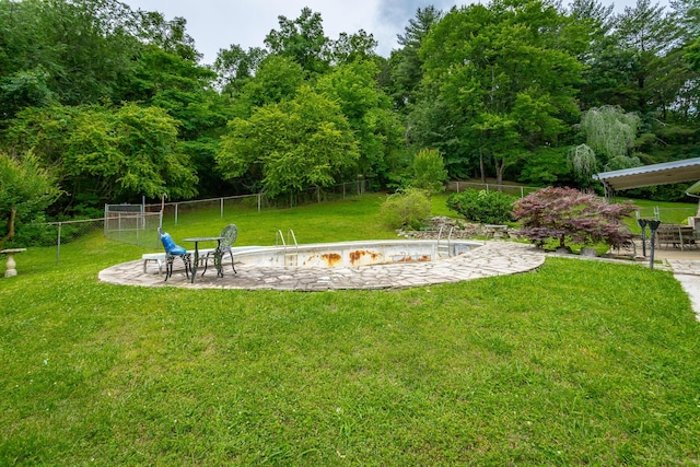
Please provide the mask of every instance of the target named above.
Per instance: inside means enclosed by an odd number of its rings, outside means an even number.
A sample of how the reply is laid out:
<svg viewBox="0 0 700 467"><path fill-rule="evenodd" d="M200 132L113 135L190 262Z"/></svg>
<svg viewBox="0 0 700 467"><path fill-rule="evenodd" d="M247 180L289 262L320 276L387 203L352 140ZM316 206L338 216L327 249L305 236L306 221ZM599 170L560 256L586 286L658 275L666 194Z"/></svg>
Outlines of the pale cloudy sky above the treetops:
<svg viewBox="0 0 700 467"><path fill-rule="evenodd" d="M477 0L478 1L478 0ZM320 13L324 33L337 39L340 33L360 30L378 42L376 52L388 57L398 47L397 34L404 34L418 8L434 5L448 11L471 0L122 0L132 9L159 11L166 20L183 16L195 47L203 54L202 63L212 63L220 49L238 45L244 50L265 47L265 37L279 30L278 16L296 20L304 7ZM605 1L604 1L605 3ZM616 11L634 0L617 0Z"/></svg>

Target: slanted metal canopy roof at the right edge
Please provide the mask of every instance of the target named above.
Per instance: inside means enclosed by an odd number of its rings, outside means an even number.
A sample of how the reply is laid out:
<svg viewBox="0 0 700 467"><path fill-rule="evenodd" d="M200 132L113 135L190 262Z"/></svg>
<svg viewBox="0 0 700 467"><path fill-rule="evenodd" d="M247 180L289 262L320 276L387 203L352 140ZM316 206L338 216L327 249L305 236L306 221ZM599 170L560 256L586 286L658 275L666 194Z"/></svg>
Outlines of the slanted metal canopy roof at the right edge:
<svg viewBox="0 0 700 467"><path fill-rule="evenodd" d="M615 191L654 185L696 182L700 180L700 157L603 172L594 175L594 178L603 182L606 189Z"/></svg>

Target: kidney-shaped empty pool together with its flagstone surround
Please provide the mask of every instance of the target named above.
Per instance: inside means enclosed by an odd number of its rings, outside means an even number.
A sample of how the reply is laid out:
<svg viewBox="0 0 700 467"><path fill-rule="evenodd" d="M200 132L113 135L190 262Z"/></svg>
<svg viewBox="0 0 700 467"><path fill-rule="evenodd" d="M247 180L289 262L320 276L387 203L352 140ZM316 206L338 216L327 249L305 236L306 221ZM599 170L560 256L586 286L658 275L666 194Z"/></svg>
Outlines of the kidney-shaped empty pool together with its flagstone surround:
<svg viewBox="0 0 700 467"><path fill-rule="evenodd" d="M300 246L238 246L224 277L208 272L192 283L184 268L167 281L143 259L100 271L100 280L121 285L196 289L330 291L400 289L526 272L545 261L541 250L512 242L362 241ZM287 265L287 267L285 267ZM332 267L330 267L332 266Z"/></svg>

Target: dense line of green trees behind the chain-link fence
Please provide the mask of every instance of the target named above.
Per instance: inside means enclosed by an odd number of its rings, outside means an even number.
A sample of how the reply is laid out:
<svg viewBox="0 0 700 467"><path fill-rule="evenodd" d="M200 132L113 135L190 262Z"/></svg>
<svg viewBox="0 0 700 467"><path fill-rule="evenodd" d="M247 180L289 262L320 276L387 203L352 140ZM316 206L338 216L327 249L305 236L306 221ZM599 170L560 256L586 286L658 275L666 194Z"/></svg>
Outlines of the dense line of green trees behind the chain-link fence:
<svg viewBox="0 0 700 467"><path fill-rule="evenodd" d="M396 188L427 149L451 178L538 186L700 156L699 28L698 0L618 14L492 0L418 9L385 58L364 31L327 37L304 8L264 46L202 65L184 17L0 0L0 222L27 199L42 202L26 215L72 217L163 194ZM16 184L27 171L34 197Z"/></svg>

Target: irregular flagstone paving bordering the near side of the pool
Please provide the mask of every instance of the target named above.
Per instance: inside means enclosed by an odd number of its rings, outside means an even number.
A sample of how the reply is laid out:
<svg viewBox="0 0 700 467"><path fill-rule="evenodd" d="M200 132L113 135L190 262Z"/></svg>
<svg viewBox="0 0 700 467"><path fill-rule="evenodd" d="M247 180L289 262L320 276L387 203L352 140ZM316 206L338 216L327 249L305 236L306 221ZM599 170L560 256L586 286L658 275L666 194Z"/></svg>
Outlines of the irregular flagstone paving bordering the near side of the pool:
<svg viewBox="0 0 700 467"><path fill-rule="evenodd" d="M378 241L381 242L381 241ZM366 242L362 242L366 244ZM249 248L249 247L248 247ZM235 255L235 252L234 252ZM281 291L392 290L460 282L532 271L545 262L546 254L530 244L488 241L459 256L425 262L400 262L360 267L260 267L236 262L237 275L224 265L224 277L198 276L195 283L176 269L164 281L158 269L143 273L143 261L115 265L100 272L102 282L135 287L182 289L241 289Z"/></svg>

